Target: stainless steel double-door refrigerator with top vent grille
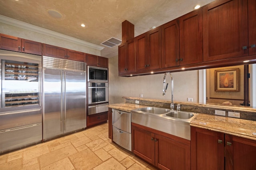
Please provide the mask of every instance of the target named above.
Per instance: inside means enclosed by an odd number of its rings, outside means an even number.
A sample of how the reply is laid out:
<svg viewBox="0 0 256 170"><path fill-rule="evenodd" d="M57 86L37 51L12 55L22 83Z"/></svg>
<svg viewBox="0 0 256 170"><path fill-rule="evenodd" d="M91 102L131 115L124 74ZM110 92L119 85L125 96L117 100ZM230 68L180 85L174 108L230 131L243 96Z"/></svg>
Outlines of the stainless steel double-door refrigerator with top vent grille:
<svg viewBox="0 0 256 170"><path fill-rule="evenodd" d="M86 128L86 63L43 56L43 139Z"/></svg>

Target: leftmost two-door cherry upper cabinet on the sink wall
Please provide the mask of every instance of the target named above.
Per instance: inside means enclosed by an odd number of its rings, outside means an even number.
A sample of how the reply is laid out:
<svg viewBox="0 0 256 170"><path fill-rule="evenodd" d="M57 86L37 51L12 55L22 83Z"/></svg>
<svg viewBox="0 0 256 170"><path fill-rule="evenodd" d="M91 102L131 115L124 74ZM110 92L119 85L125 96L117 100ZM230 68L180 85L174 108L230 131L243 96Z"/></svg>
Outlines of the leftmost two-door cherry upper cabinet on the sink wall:
<svg viewBox="0 0 256 170"><path fill-rule="evenodd" d="M118 47L119 74L133 73L136 71L135 39Z"/></svg>

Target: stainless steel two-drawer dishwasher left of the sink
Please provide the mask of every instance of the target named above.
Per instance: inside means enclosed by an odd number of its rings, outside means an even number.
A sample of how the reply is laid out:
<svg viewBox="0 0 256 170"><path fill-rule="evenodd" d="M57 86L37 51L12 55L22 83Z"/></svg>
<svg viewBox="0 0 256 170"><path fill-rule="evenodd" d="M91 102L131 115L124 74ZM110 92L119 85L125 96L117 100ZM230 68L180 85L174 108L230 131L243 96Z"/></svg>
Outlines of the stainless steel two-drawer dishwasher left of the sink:
<svg viewBox="0 0 256 170"><path fill-rule="evenodd" d="M132 151L131 113L112 109L113 141Z"/></svg>

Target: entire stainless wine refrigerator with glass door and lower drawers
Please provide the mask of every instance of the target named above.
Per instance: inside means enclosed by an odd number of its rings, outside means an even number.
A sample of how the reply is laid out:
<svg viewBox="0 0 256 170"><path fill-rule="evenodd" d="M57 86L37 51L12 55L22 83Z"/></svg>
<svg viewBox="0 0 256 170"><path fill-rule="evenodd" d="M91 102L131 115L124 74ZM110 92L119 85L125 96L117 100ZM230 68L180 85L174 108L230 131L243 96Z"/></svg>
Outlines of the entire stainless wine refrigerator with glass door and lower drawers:
<svg viewBox="0 0 256 170"><path fill-rule="evenodd" d="M0 60L0 153L3 153L42 141L41 56L0 50ZM18 68L19 65L23 68ZM33 67L30 73L22 73L28 65Z"/></svg>

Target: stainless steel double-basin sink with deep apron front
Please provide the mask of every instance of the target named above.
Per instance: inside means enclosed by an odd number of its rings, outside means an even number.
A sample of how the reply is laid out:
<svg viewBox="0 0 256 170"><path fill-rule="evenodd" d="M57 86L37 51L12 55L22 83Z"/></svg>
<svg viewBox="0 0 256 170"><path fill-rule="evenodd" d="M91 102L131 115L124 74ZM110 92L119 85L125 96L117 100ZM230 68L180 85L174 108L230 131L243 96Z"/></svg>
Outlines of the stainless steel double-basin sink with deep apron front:
<svg viewBox="0 0 256 170"><path fill-rule="evenodd" d="M197 113L172 111L161 107L134 109L132 122L190 140L190 121Z"/></svg>

